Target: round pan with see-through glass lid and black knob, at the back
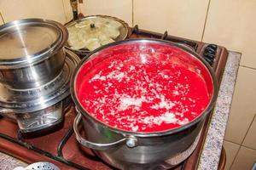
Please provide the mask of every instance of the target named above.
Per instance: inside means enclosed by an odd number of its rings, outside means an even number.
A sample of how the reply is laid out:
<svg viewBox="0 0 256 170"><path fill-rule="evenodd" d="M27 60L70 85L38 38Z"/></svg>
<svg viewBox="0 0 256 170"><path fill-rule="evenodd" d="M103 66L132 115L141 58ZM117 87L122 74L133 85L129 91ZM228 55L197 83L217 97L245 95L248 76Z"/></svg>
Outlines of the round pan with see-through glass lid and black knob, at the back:
<svg viewBox="0 0 256 170"><path fill-rule="evenodd" d="M110 42L124 40L129 32L123 20L106 15L86 16L66 27L69 34L66 48L81 55Z"/></svg>

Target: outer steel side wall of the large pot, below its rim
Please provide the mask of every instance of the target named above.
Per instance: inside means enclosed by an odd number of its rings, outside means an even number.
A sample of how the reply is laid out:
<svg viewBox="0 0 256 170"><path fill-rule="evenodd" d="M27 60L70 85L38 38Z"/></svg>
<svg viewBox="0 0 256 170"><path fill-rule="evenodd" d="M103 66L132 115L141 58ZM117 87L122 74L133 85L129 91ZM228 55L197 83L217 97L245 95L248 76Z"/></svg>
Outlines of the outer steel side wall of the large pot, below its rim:
<svg viewBox="0 0 256 170"><path fill-rule="evenodd" d="M77 128L78 122L79 116L74 122ZM195 150L198 143L196 139L201 132L202 125L203 120L177 133L167 135L160 133L158 136L149 134L148 137L140 137L136 134L115 133L109 127L102 127L89 117L83 116L81 133L85 132L85 137L82 137L78 131L74 132L80 144L93 149L97 156L113 167L157 169L163 166L174 167L187 159ZM136 139L137 145L129 147L129 139Z"/></svg>

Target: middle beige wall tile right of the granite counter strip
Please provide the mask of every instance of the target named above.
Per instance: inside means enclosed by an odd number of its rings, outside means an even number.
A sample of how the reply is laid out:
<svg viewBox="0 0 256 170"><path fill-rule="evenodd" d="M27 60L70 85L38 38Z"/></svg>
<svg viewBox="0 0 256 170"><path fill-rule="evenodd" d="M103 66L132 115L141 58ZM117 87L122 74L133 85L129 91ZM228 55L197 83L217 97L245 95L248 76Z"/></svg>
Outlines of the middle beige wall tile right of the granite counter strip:
<svg viewBox="0 0 256 170"><path fill-rule="evenodd" d="M256 71L240 67L225 139L241 144L256 113Z"/></svg>

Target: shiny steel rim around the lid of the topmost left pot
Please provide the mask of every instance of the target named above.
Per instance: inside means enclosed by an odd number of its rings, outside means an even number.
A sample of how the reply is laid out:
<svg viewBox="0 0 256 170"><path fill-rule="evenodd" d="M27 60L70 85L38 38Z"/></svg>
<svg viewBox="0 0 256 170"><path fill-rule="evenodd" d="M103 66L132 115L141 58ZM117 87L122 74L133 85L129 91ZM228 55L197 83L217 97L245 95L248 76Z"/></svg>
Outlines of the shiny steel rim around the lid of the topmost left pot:
<svg viewBox="0 0 256 170"><path fill-rule="evenodd" d="M37 18L14 20L6 24L3 24L3 26L0 26L0 32L15 26L30 24L32 26L53 26L57 31L60 32L60 36L55 40L55 42L53 42L53 44L51 44L49 48L45 48L44 50L36 54L30 54L29 57L20 56L16 59L0 59L0 69L15 69L25 67L26 65L37 64L38 62L44 59L49 59L49 57L58 53L59 50L61 50L61 48L64 49L64 45L67 42L68 38L67 28L65 26L62 26L61 23L56 22L54 20L44 20Z"/></svg>

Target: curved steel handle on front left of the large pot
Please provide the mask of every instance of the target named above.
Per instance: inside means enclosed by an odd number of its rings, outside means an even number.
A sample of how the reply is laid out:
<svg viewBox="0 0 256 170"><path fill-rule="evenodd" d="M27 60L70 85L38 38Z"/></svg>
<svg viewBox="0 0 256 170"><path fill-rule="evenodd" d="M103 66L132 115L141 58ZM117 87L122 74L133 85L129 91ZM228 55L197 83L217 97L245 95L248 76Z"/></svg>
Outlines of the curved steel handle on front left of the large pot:
<svg viewBox="0 0 256 170"><path fill-rule="evenodd" d="M82 115L78 113L76 118L74 119L73 123L73 131L76 135L76 139L79 141L80 144L84 145L85 147L88 147L93 150L109 150L116 148L120 144L126 144L129 148L134 148L137 146L137 139L135 137L126 137L124 139L119 139L113 143L108 144L98 144L94 142L90 142L89 140L84 139L81 134L79 133L79 122L82 119Z"/></svg>

